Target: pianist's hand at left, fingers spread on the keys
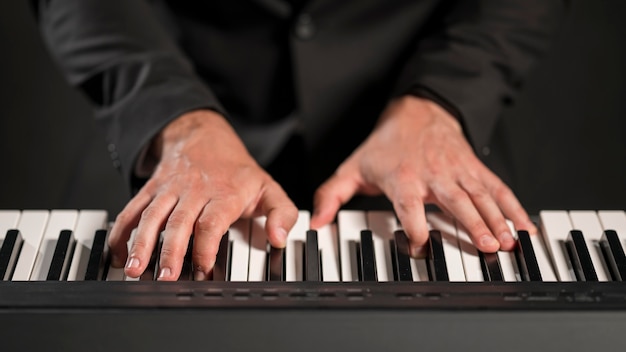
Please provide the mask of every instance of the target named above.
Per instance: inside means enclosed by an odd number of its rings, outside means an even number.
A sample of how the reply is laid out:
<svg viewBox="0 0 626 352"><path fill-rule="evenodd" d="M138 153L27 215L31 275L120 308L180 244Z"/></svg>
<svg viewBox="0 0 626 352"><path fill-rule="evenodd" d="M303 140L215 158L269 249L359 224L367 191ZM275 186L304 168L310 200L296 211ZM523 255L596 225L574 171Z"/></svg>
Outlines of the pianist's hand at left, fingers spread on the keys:
<svg viewBox="0 0 626 352"><path fill-rule="evenodd" d="M128 276L140 276L163 230L158 278L176 280L194 233L194 275L206 279L229 226L240 217L257 215L267 216L269 242L284 247L297 208L221 115L209 110L187 113L166 126L154 143L157 167L111 230L114 265L125 262ZM126 243L135 227L128 254Z"/></svg>

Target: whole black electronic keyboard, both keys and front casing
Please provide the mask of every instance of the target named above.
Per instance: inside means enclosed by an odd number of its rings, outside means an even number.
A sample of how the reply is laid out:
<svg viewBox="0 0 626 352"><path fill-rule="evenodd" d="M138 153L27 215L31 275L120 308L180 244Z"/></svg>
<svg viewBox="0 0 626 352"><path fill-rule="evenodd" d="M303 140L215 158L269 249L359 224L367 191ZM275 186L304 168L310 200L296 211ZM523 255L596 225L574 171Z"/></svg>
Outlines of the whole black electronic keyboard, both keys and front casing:
<svg viewBox="0 0 626 352"><path fill-rule="evenodd" d="M423 259L392 213L316 233L300 215L284 250L262 218L234 224L209 281L187 262L177 282L156 265L129 282L107 266L106 212L0 211L3 350L623 349L624 211L541 212L538 236L496 254L429 213Z"/></svg>

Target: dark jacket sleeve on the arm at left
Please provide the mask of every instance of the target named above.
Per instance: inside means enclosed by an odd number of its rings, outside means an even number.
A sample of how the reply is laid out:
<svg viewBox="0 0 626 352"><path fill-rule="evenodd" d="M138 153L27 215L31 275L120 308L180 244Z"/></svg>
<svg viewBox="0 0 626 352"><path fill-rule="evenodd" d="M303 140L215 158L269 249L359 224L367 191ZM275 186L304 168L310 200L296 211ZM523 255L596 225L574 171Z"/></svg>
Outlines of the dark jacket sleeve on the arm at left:
<svg viewBox="0 0 626 352"><path fill-rule="evenodd" d="M68 81L95 106L126 180L168 122L199 108L223 113L145 0L35 0L43 37Z"/></svg>

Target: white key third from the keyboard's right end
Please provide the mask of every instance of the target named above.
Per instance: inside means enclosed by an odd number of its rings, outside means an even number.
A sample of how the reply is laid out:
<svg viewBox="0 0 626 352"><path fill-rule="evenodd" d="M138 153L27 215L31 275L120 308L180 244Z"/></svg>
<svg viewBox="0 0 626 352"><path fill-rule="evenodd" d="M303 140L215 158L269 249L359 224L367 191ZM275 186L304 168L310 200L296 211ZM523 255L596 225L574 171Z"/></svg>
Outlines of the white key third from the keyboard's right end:
<svg viewBox="0 0 626 352"><path fill-rule="evenodd" d="M539 216L541 218L541 234L556 268L559 281L576 281L571 263L562 246L572 230L569 214L560 210L544 210L539 213Z"/></svg>

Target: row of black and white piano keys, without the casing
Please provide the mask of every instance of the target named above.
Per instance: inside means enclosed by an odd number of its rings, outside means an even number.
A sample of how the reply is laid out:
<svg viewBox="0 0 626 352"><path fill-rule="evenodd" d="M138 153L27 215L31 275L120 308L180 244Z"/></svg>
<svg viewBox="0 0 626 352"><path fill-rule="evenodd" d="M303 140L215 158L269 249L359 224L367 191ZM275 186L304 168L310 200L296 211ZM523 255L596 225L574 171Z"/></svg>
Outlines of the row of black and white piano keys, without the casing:
<svg viewBox="0 0 626 352"><path fill-rule="evenodd" d="M108 214L97 210L0 211L0 276L4 281L123 281L108 266ZM518 231L517 250L481 253L442 213L428 213L424 259L392 212L341 211L337 224L309 230L301 211L284 249L266 242L264 218L239 220L224 235L211 280L234 282L573 282L626 278L624 211L543 211L541 233ZM512 228L512 230L514 230ZM131 237L132 238L132 237ZM138 278L152 281L152 267ZM190 255L180 280L192 280Z"/></svg>

